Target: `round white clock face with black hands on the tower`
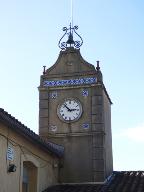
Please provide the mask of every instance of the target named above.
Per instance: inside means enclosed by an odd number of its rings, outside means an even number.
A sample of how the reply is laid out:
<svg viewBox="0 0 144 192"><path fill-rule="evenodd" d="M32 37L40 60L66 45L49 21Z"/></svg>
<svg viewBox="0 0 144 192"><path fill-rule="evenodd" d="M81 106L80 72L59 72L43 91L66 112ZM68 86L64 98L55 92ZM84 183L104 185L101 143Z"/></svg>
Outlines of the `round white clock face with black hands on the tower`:
<svg viewBox="0 0 144 192"><path fill-rule="evenodd" d="M82 106L73 98L65 99L57 108L57 114L62 121L67 123L77 121L82 114Z"/></svg>

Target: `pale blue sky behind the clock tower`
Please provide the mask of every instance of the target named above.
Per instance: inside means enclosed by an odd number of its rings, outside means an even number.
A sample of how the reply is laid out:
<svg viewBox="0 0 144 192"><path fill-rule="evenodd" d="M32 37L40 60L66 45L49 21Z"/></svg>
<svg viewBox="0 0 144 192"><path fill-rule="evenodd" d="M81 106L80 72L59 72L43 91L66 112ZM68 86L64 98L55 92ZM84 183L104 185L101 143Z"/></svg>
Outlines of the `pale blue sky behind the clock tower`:
<svg viewBox="0 0 144 192"><path fill-rule="evenodd" d="M73 0L81 54L113 102L114 170L144 170L144 1ZM40 75L58 55L71 0L0 0L0 107L38 133Z"/></svg>

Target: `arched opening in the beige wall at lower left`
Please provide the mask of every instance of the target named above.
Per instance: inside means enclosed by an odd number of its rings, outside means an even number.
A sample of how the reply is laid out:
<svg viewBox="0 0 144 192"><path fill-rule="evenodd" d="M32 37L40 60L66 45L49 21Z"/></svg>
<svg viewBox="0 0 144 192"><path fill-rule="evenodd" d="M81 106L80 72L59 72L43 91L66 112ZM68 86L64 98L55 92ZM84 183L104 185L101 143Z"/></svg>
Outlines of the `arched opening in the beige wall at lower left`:
<svg viewBox="0 0 144 192"><path fill-rule="evenodd" d="M37 167L30 161L23 162L22 192L37 191Z"/></svg>

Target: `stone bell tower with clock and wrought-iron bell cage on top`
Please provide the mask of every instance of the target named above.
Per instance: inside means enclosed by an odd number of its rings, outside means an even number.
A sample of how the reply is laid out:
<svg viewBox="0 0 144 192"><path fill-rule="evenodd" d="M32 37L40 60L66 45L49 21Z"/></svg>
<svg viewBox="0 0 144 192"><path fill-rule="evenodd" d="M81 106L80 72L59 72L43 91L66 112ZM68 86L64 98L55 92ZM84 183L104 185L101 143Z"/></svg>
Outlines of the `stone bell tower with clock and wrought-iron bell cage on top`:
<svg viewBox="0 0 144 192"><path fill-rule="evenodd" d="M63 28L59 57L41 75L39 134L65 148L62 183L103 182L113 171L112 102L99 61L95 68L80 54L77 29Z"/></svg>

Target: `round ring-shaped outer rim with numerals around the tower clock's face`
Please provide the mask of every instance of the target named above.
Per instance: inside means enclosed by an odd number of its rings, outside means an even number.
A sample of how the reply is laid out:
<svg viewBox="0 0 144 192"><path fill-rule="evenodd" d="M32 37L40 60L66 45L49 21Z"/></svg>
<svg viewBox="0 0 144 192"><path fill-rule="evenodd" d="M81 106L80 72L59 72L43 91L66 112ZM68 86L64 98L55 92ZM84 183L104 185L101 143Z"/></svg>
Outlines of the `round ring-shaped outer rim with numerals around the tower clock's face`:
<svg viewBox="0 0 144 192"><path fill-rule="evenodd" d="M79 108L80 108L80 113L79 113L79 115L78 115L75 119L73 119L73 120L66 120L66 119L64 119L64 118L62 117L62 115L60 114L60 108L61 108L61 106L62 106L66 101L68 101L68 100L75 101L75 102L79 105ZM82 112L83 112L82 104L81 104L81 102L80 102L77 98L72 98L72 97L65 98L65 99L63 99L63 100L61 101L61 103L60 103L60 104L58 105L58 107L57 107L57 115L58 115L59 119L60 119L61 121L65 122L65 123L73 123L73 122L75 122L75 121L78 121L78 120L80 119L81 115L82 115Z"/></svg>

